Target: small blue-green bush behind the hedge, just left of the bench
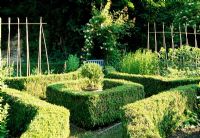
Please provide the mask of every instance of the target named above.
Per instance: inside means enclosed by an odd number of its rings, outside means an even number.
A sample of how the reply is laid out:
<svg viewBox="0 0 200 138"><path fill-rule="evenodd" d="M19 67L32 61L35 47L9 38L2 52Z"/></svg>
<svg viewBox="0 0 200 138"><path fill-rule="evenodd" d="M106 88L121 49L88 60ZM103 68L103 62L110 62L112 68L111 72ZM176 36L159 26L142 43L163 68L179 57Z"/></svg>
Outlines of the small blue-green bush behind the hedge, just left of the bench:
<svg viewBox="0 0 200 138"><path fill-rule="evenodd" d="M76 71L79 67L79 58L76 55L69 55L65 62L65 72Z"/></svg>

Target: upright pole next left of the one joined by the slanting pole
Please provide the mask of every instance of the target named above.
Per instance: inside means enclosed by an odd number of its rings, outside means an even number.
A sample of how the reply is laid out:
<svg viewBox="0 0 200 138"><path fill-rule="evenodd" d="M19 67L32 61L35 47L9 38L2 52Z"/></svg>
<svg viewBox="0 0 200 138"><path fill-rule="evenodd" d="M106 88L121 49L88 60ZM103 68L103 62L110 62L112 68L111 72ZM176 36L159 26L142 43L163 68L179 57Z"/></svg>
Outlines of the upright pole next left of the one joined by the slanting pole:
<svg viewBox="0 0 200 138"><path fill-rule="evenodd" d="M30 59L29 59L29 40L28 40L28 19L26 17L26 62L27 62L27 66L26 66L26 75L29 76L30 75Z"/></svg>

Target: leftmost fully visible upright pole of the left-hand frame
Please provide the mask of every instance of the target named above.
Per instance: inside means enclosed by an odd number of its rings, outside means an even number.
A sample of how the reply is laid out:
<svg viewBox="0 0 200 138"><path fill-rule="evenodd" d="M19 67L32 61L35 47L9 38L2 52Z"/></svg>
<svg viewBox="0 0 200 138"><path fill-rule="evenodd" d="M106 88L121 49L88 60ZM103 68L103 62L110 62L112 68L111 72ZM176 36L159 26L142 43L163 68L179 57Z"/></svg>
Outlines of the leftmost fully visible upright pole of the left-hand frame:
<svg viewBox="0 0 200 138"><path fill-rule="evenodd" d="M8 74L11 77L10 71L10 22L11 18L8 18L8 51L7 51L7 67L8 67Z"/></svg>

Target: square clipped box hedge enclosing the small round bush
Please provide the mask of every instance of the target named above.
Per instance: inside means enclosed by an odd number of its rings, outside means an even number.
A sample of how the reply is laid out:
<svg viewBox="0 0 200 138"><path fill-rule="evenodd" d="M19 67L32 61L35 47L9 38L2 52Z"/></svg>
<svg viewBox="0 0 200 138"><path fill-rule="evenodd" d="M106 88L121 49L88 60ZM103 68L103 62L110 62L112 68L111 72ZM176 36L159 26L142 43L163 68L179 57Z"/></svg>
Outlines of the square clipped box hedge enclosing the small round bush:
<svg viewBox="0 0 200 138"><path fill-rule="evenodd" d="M82 84L82 80L52 84L46 95L48 102L68 108L70 120L86 129L119 120L120 107L144 98L143 86L128 81L105 79L101 92L81 91Z"/></svg>

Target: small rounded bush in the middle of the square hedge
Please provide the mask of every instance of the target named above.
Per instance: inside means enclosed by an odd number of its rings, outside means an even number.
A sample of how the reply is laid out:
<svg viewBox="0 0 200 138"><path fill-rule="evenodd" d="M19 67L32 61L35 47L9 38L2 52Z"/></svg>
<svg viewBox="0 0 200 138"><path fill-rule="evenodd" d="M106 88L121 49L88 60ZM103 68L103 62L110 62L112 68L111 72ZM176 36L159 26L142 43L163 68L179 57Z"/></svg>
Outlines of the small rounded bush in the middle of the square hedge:
<svg viewBox="0 0 200 138"><path fill-rule="evenodd" d="M103 85L103 70L96 63L85 63L80 69L81 75L87 79L88 88L102 89Z"/></svg>

